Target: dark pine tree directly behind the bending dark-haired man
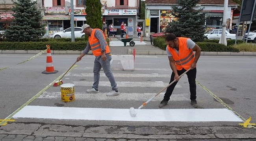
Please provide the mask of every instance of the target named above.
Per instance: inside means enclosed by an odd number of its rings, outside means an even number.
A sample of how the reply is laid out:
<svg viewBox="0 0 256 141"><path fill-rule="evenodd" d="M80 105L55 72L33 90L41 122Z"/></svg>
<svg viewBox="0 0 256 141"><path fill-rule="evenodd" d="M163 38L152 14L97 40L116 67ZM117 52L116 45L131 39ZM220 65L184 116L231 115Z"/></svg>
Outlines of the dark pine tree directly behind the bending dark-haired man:
<svg viewBox="0 0 256 141"><path fill-rule="evenodd" d="M177 37L187 37L198 42L204 40L205 13L203 9L195 10L193 7L200 0L177 0L178 5L172 6L171 14L177 18L166 29L166 33L173 33Z"/></svg>

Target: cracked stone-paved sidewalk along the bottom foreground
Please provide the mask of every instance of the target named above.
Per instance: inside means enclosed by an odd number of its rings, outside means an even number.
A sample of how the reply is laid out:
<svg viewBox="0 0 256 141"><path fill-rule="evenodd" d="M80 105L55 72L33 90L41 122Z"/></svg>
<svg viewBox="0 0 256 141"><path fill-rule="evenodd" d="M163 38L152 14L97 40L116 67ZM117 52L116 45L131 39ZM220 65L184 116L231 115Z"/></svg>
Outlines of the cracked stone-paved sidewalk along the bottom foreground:
<svg viewBox="0 0 256 141"><path fill-rule="evenodd" d="M1 141L256 141L256 130L228 127L75 126L8 123Z"/></svg>

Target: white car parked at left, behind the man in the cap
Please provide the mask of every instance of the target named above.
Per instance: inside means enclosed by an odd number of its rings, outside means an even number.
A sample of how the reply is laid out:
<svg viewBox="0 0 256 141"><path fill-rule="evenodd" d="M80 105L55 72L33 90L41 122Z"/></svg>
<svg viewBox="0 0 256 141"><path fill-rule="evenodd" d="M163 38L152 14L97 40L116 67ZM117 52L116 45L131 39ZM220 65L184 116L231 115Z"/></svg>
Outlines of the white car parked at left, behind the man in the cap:
<svg viewBox="0 0 256 141"><path fill-rule="evenodd" d="M84 33L80 33L81 31L82 27L74 27L75 38L85 37ZM63 31L52 33L50 38L71 38L71 28L69 27Z"/></svg>

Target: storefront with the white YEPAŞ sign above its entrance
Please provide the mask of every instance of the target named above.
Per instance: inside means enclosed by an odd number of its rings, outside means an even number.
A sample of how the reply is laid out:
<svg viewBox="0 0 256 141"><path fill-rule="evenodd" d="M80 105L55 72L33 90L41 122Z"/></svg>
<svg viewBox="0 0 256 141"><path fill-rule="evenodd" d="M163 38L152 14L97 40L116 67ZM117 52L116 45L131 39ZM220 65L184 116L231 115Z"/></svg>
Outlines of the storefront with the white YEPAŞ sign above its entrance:
<svg viewBox="0 0 256 141"><path fill-rule="evenodd" d="M128 36L134 36L136 34L136 15L137 9L102 9L102 20L108 26L113 23L114 28L117 29L117 35L121 35L122 22L126 24L126 33L128 33Z"/></svg>

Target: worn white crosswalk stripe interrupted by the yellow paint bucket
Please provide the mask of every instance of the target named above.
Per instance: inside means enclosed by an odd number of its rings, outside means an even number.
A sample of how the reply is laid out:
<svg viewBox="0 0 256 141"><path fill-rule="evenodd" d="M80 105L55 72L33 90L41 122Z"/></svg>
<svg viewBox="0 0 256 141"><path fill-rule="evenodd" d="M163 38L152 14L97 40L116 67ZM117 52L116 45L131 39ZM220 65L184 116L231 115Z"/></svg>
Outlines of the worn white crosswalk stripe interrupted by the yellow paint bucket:
<svg viewBox="0 0 256 141"><path fill-rule="evenodd" d="M120 93L119 96L109 97L106 93L86 93L86 92L75 92L74 96L76 100L136 100L136 101L147 101L148 99L155 96L156 93ZM163 100L164 92L156 96L152 101ZM38 98L40 99L61 99L61 92L44 92ZM171 101L186 101L189 100L189 94L172 94ZM142 104L142 103L141 103Z"/></svg>

